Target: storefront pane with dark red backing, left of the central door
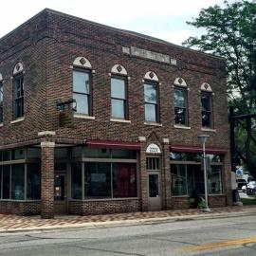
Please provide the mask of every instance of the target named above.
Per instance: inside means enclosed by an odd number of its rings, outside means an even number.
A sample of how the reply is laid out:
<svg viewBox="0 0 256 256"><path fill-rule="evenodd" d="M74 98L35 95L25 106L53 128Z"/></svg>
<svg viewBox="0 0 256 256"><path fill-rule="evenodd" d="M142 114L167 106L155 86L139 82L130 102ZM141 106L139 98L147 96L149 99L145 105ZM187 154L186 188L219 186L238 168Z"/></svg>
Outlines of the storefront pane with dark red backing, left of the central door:
<svg viewBox="0 0 256 256"><path fill-rule="evenodd" d="M136 165L129 163L112 164L113 197L136 197Z"/></svg>

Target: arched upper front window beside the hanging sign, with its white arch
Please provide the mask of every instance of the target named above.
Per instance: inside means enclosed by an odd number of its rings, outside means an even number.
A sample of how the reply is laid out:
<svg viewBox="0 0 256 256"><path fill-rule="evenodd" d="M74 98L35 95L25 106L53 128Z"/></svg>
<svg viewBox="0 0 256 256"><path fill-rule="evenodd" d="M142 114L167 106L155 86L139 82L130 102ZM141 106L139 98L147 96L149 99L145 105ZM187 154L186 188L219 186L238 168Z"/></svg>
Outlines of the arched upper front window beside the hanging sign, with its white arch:
<svg viewBox="0 0 256 256"><path fill-rule="evenodd" d="M73 99L77 101L77 113L91 116L91 64L78 57L73 63Z"/></svg>

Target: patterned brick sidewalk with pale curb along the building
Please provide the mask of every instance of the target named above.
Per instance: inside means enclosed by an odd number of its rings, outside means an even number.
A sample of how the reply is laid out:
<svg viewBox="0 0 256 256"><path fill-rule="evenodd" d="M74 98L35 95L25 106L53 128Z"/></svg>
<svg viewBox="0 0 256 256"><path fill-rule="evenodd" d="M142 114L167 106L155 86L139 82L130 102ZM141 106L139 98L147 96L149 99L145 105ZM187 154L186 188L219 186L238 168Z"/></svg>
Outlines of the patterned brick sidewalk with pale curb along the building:
<svg viewBox="0 0 256 256"><path fill-rule="evenodd" d="M105 215L59 215L54 219L41 219L40 216L17 216L0 214L0 233L46 229L93 229L100 227L137 225L163 221L182 221L187 219L223 218L256 213L256 206L213 208L210 213L202 210L161 210L129 212Z"/></svg>

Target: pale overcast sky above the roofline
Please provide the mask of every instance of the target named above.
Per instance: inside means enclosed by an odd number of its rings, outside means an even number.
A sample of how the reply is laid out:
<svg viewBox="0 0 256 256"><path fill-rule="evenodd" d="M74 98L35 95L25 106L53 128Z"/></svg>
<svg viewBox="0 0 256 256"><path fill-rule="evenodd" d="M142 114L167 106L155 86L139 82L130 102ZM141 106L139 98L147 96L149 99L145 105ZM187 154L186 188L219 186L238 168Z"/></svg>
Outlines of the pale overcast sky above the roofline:
<svg viewBox="0 0 256 256"><path fill-rule="evenodd" d="M3 0L0 38L49 8L181 45L189 36L200 33L186 21L197 17L200 9L215 4L223 6L223 0Z"/></svg>

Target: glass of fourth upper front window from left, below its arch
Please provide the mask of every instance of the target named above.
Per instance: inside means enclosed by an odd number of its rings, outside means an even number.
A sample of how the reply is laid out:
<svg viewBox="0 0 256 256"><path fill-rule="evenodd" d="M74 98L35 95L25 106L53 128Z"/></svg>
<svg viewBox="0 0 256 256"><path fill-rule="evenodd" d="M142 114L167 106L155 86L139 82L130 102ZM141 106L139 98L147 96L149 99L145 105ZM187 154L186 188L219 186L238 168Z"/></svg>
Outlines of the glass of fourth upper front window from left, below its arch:
<svg viewBox="0 0 256 256"><path fill-rule="evenodd" d="M175 123L187 125L187 91L182 88L174 89L174 115Z"/></svg>

